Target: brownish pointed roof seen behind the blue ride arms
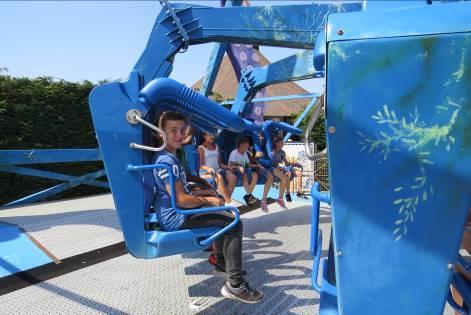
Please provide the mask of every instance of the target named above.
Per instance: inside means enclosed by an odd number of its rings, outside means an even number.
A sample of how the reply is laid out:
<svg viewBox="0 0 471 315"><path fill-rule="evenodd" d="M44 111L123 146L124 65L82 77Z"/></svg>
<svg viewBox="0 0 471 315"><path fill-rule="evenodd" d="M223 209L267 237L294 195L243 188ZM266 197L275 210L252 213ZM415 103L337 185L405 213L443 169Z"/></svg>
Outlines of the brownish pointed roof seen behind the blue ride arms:
<svg viewBox="0 0 471 315"><path fill-rule="evenodd" d="M256 50L256 53L260 58L260 64L262 66L270 63L270 61L260 51ZM201 88L202 82L203 78L199 79L195 84L193 84L192 88L199 90ZM216 96L220 95L222 100L233 100L237 93L238 83L239 82L229 57L225 55L221 62L221 67L219 68L219 72L213 86L213 93ZM265 97L308 93L308 91L294 82L274 84L265 88ZM266 102L265 116L289 117L292 114L297 115L301 113L304 108L306 108L309 101L310 99L295 99Z"/></svg>

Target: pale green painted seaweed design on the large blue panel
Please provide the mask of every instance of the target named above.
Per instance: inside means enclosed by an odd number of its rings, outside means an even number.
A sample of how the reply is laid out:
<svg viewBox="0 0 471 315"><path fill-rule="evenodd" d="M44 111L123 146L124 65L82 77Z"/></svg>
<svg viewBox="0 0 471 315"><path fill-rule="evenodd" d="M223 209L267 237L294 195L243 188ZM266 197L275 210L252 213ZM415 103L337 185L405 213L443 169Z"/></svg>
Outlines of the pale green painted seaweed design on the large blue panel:
<svg viewBox="0 0 471 315"><path fill-rule="evenodd" d="M382 156L382 162L395 152L407 150L414 154L418 173L412 180L404 185L394 188L399 195L393 201L397 207L398 218L394 221L393 235L396 241L407 235L408 224L414 222L414 216L419 206L426 203L434 194L432 184L428 183L427 168L434 164L430 158L430 146L444 146L449 151L455 143L451 130L456 123L461 106L447 99L443 105L435 106L438 114L451 112L448 123L444 125L427 125L420 119L420 114L415 108L409 117L398 117L394 110L383 105L382 110L376 112L371 118L379 125L386 125L389 130L380 131L375 137L369 137L361 131L357 134L361 137L360 152L368 150L368 153L377 151Z"/></svg>

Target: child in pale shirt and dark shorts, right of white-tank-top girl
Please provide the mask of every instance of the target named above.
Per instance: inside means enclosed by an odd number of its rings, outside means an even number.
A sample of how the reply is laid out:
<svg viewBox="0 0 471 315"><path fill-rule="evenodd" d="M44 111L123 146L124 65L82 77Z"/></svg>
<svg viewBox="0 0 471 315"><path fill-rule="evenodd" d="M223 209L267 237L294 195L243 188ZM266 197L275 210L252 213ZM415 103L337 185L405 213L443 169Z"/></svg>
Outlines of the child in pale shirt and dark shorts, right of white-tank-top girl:
<svg viewBox="0 0 471 315"><path fill-rule="evenodd" d="M247 150L249 149L249 138L241 136L236 139L236 148L229 155L229 166L238 177L242 177L242 185L244 186L246 195L244 196L247 205L253 205L258 201L252 195L257 184L258 174L252 172L250 167L260 169L260 164L252 163L249 159ZM250 183L249 183L250 177Z"/></svg>

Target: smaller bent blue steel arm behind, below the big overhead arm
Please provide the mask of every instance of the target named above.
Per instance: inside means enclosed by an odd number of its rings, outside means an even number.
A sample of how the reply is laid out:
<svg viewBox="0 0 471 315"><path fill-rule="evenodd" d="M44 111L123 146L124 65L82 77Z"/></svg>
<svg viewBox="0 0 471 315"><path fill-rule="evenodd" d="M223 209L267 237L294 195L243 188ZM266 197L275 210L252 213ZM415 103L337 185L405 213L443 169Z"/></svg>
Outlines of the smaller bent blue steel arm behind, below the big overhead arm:
<svg viewBox="0 0 471 315"><path fill-rule="evenodd" d="M244 112L246 105L257 92L268 85L304 80L315 76L312 50L305 50L264 67L244 70L231 110L234 113Z"/></svg>

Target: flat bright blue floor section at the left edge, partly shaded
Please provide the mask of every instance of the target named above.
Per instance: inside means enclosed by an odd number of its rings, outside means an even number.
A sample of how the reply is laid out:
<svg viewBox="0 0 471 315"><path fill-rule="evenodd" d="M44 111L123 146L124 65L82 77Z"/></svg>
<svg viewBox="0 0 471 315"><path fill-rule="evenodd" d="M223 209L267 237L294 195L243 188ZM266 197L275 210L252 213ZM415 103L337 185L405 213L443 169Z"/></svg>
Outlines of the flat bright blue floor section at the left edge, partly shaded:
<svg viewBox="0 0 471 315"><path fill-rule="evenodd" d="M17 226L0 223L0 278L50 262Z"/></svg>

